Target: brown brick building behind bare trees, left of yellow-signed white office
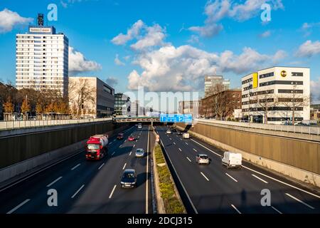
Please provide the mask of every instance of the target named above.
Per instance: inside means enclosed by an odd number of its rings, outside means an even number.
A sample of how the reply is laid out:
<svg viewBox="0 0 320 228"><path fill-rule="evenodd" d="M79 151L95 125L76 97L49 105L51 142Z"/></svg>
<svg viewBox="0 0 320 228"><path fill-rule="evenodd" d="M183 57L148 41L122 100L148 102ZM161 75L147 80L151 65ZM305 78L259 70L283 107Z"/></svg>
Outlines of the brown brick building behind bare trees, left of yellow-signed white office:
<svg viewBox="0 0 320 228"><path fill-rule="evenodd" d="M239 111L236 111L239 109L241 109L241 90L224 90L203 98L199 114L203 118L228 120L228 118L239 118Z"/></svg>

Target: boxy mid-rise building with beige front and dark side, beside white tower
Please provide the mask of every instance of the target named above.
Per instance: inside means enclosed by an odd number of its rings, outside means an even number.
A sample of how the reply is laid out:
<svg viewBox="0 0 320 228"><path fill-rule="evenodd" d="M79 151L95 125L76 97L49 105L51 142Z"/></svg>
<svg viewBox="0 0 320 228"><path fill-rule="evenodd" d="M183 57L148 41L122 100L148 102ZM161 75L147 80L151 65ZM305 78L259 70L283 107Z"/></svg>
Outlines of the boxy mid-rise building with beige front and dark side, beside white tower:
<svg viewBox="0 0 320 228"><path fill-rule="evenodd" d="M73 115L110 117L114 113L114 88L96 77L70 77L69 105Z"/></svg>

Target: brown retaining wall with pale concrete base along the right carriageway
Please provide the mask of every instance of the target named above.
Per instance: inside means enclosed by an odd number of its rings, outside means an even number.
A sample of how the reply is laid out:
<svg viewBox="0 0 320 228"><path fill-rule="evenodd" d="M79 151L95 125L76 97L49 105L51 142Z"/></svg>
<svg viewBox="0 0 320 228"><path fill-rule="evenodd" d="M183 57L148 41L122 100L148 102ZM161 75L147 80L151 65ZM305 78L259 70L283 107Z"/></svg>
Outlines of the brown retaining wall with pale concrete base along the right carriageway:
<svg viewBox="0 0 320 228"><path fill-rule="evenodd" d="M187 129L191 135L200 138L209 144L218 146L223 150L242 153L242 157L249 162L282 173L283 175L292 177L296 180L320 187L320 175L317 173L319 172L318 168L320 163L319 143L281 137L268 138L266 135L243 133L241 131L235 132L233 129L223 129L223 131L227 130L227 132L222 133L223 135L218 135L218 132L221 129L204 129L208 127L219 128L215 126L195 125L194 128L190 128L189 126ZM177 128L185 130L186 125L178 124ZM215 133L212 133L212 131ZM227 134L229 134L229 137ZM230 137L237 138L235 142L238 143L230 142ZM266 155L269 155L274 159L271 159ZM291 165L289 162L291 164L304 165L303 167L309 167L311 170L316 170L316 172L304 170L300 167Z"/></svg>

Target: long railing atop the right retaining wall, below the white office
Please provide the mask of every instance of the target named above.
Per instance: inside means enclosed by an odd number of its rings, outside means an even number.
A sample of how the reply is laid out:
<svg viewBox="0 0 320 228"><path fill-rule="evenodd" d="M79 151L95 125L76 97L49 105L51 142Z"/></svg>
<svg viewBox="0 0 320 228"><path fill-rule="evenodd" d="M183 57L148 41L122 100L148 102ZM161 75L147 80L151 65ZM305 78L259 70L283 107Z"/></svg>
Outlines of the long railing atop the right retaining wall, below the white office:
<svg viewBox="0 0 320 228"><path fill-rule="evenodd" d="M274 124L262 124L262 123L239 123L223 120L204 120L204 119L195 119L198 123L215 123L220 125L230 125L243 128L255 128L260 130L274 130L282 131L287 133L301 133L308 135L320 135L319 127L309 127L309 126L299 126L299 125L274 125Z"/></svg>

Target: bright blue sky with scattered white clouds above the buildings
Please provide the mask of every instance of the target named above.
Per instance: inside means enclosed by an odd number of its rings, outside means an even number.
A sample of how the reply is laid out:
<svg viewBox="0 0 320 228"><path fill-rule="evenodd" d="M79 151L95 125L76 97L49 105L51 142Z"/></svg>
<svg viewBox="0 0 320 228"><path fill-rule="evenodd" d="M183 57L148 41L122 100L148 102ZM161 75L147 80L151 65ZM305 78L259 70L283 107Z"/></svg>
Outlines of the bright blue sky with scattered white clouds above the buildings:
<svg viewBox="0 0 320 228"><path fill-rule="evenodd" d="M267 24L260 19L264 2L272 6ZM203 74L214 72L239 87L247 73L285 65L310 67L311 90L320 95L320 2L314 0L1 0L0 19L21 17L0 21L2 81L15 81L16 33L26 32L38 12L48 14L50 3L58 6L58 21L48 24L68 36L78 74L109 78L117 92L200 91ZM136 23L137 34L128 36Z"/></svg>

